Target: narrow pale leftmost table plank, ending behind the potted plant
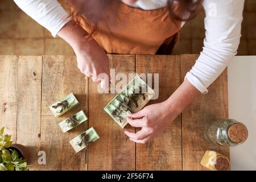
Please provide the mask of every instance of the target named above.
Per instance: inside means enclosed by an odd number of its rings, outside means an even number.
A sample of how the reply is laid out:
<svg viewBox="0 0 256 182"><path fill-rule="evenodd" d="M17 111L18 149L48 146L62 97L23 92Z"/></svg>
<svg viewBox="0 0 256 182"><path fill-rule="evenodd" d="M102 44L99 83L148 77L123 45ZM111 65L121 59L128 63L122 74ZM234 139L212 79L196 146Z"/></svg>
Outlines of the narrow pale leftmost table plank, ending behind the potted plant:
<svg viewBox="0 0 256 182"><path fill-rule="evenodd" d="M18 56L0 56L0 127L16 142Z"/></svg>

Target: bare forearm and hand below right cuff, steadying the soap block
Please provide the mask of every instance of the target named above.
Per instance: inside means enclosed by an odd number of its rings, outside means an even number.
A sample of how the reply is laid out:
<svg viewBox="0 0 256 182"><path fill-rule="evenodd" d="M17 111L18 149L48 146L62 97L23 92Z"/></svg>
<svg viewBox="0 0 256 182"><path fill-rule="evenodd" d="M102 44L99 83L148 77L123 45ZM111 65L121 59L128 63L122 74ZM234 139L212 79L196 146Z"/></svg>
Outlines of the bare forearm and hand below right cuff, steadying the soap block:
<svg viewBox="0 0 256 182"><path fill-rule="evenodd" d="M168 100L146 106L138 113L129 114L126 118L128 123L142 129L137 133L125 131L125 134L133 142L149 142L162 133L177 115L199 95L200 91L186 79Z"/></svg>

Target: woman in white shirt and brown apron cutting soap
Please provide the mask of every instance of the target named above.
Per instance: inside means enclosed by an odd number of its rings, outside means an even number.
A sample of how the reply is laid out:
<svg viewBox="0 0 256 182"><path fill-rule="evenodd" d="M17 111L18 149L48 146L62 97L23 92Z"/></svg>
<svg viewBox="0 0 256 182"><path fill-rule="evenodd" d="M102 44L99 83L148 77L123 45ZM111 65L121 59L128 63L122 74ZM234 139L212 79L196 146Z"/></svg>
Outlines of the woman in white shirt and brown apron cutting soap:
<svg viewBox="0 0 256 182"><path fill-rule="evenodd" d="M244 0L73 0L72 16L53 0L15 0L42 26L59 35L74 49L81 72L108 87L107 53L171 53L184 19L193 18L202 3L205 18L204 48L184 82L166 101L130 114L125 134L146 143L162 133L170 122L221 74L237 53L241 37ZM73 17L73 19L72 19ZM79 24L79 26L74 26ZM192 30L193 31L193 30Z"/></svg>

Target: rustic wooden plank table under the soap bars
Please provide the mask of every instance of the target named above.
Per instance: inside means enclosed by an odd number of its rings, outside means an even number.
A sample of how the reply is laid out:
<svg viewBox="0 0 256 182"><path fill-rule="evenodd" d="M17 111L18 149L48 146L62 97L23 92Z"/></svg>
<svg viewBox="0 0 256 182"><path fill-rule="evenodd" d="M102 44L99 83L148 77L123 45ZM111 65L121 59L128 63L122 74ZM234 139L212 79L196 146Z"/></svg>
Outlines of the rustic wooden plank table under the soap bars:
<svg viewBox="0 0 256 182"><path fill-rule="evenodd" d="M198 55L109 55L110 68L122 73L159 73L159 98L166 100L181 84ZM103 107L114 97L99 94L97 85L80 73L74 56L0 56L0 127L16 143L28 146L33 169L40 170L203 170L205 150L229 156L229 149L205 142L205 122L228 118L226 71L183 111L158 138L135 144ZM60 118L48 106L73 92L80 102ZM62 133L57 123L84 110L89 117L79 127ZM69 144L88 127L100 139L78 154ZM132 127L127 127L135 131ZM46 152L46 165L38 152Z"/></svg>

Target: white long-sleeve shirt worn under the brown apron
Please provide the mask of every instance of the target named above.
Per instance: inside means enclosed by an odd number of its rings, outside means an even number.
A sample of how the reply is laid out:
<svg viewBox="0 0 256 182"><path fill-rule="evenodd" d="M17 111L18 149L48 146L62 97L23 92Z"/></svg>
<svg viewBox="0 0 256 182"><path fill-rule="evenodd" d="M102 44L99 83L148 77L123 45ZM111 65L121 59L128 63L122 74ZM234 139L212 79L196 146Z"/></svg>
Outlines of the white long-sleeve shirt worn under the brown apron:
<svg viewBox="0 0 256 182"><path fill-rule="evenodd" d="M56 36L71 19L57 0L14 0L25 13ZM205 39L203 51L185 78L201 93L224 71L236 55L241 38L245 0L204 0ZM138 0L144 10L165 6L166 0ZM26 26L26 25L24 25ZM191 30L193 31L193 30Z"/></svg>

